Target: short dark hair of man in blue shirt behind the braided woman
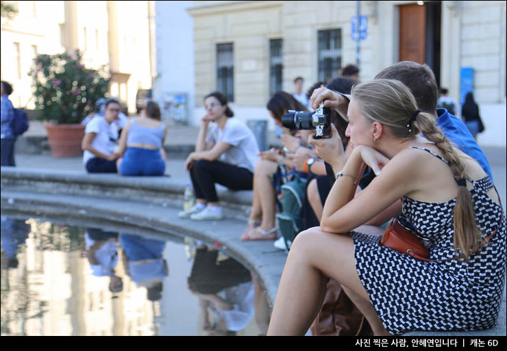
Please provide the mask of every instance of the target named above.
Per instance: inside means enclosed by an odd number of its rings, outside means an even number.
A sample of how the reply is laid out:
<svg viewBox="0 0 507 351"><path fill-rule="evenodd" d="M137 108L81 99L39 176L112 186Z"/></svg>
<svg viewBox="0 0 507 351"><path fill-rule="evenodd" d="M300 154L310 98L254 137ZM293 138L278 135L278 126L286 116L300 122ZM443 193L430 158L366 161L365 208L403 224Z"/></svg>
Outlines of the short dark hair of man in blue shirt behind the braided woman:
<svg viewBox="0 0 507 351"><path fill-rule="evenodd" d="M401 61L384 68L375 79L394 79L407 86L415 97L417 107L422 112L434 114L438 100L438 86L435 75L427 64Z"/></svg>

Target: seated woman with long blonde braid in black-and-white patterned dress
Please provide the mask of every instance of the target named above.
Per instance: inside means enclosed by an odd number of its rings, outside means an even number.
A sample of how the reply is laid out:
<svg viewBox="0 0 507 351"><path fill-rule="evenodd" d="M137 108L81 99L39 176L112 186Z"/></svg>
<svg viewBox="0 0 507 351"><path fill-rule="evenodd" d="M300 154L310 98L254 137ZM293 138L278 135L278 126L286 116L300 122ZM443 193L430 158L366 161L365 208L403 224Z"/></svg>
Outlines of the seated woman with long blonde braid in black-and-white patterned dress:
<svg viewBox="0 0 507 351"><path fill-rule="evenodd" d="M320 228L299 233L290 248L268 335L304 335L326 277L344 287L375 335L495 326L506 221L489 174L452 146L400 81L355 86L347 118L354 150L336 174ZM377 177L356 196L366 166ZM363 225L399 198L401 216L432 243L431 261L382 246L382 229Z"/></svg>

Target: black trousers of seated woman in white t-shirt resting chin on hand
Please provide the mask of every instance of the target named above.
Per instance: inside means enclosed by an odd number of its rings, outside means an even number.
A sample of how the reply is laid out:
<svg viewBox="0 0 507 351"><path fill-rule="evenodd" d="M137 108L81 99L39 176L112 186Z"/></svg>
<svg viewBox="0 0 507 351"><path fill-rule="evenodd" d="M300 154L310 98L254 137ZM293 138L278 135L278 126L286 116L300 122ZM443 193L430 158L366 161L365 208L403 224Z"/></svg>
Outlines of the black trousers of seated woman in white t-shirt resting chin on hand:
<svg viewBox="0 0 507 351"><path fill-rule="evenodd" d="M203 198L208 203L217 203L219 198L215 183L230 190L252 190L253 173L238 166L220 161L199 159L190 168L190 178L194 186L195 198Z"/></svg>

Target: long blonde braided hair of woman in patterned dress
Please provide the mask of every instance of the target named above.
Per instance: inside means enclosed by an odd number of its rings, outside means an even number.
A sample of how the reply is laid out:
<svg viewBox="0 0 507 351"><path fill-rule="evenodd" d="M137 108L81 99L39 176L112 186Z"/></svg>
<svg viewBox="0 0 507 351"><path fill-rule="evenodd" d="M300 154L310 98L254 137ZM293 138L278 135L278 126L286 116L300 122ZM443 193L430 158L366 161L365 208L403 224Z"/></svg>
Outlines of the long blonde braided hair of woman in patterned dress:
<svg viewBox="0 0 507 351"><path fill-rule="evenodd" d="M433 142L449 162L456 181L466 179L465 162L452 142L436 126L431 114L416 112L417 105L410 90L400 81L375 79L352 89L363 116L386 126L395 138L412 139L419 133ZM454 250L456 256L469 258L482 242L482 233L475 222L473 200L466 186L460 186L454 207ZM461 254L458 252L461 251Z"/></svg>

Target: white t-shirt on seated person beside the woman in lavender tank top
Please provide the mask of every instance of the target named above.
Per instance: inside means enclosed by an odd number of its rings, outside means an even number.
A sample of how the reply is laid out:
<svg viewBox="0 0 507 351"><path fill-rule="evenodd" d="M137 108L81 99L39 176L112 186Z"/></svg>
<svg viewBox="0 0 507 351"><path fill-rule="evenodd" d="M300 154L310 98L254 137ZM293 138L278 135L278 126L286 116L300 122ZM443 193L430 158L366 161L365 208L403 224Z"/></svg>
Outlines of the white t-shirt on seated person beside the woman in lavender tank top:
<svg viewBox="0 0 507 351"><path fill-rule="evenodd" d="M88 122L84 133L97 133L92 142L92 148L106 155L111 155L118 140L118 129L113 124L109 124L106 119L101 116L95 116ZM89 159L96 157L90 151L85 150L83 153L83 163L86 164Z"/></svg>

